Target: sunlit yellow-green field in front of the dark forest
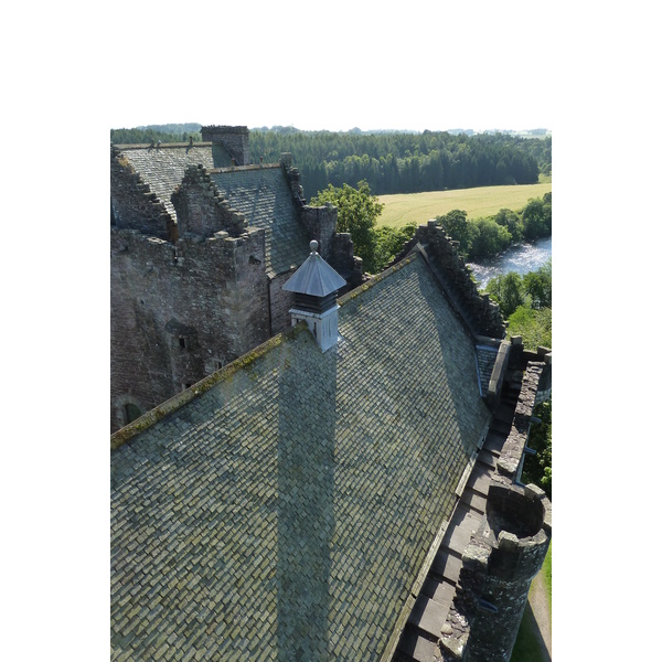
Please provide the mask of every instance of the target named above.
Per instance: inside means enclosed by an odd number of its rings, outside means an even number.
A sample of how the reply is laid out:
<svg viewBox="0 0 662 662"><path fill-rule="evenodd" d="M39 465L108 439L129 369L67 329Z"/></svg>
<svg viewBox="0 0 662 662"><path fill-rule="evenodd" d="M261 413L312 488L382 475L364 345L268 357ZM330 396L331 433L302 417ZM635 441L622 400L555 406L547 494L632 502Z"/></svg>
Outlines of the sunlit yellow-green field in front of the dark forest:
<svg viewBox="0 0 662 662"><path fill-rule="evenodd" d="M520 186L481 186L455 191L380 195L380 202L385 206L377 218L377 224L402 227L415 221L416 225L425 225L430 218L447 214L451 210L466 211L468 218L492 216L502 209L519 212L530 199L542 197L548 191L552 191L551 181Z"/></svg>

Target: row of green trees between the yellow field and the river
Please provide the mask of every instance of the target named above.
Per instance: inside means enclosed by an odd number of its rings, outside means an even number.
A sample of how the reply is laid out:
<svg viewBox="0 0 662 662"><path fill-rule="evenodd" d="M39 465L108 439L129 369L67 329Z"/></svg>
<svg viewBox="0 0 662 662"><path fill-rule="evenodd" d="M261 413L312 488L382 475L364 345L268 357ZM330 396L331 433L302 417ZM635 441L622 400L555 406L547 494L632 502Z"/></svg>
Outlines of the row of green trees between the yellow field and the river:
<svg viewBox="0 0 662 662"><path fill-rule="evenodd" d="M532 242L552 234L552 193L534 197L521 212L500 210L493 216L467 218L467 212L452 210L437 216L459 252L469 260L494 257L523 239Z"/></svg>

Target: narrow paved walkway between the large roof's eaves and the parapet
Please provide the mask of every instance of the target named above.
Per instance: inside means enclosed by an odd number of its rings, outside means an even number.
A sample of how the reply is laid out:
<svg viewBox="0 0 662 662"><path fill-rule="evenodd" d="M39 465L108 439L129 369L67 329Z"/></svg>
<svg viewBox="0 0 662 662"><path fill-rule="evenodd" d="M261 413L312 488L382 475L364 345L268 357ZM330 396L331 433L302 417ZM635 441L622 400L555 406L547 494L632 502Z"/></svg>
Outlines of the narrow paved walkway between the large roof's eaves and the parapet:
<svg viewBox="0 0 662 662"><path fill-rule="evenodd" d="M519 381L510 381L503 386L485 442L414 604L393 656L394 662L440 661L437 642L456 595L462 553L485 513L488 488L511 429L521 387L521 373Z"/></svg>

